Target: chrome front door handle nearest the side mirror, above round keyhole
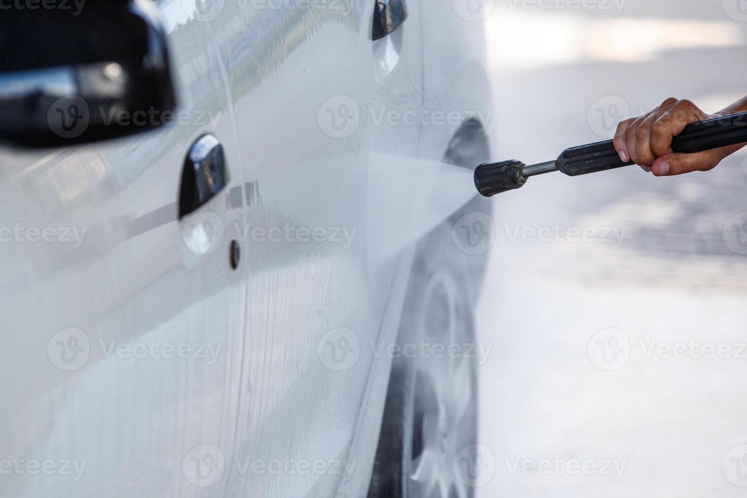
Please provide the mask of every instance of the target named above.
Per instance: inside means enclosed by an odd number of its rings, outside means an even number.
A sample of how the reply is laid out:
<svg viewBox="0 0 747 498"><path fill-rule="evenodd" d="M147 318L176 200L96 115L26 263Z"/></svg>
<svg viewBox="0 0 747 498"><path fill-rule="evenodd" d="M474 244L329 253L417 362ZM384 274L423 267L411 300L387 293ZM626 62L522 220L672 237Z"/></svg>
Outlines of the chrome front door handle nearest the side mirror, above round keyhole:
<svg viewBox="0 0 747 498"><path fill-rule="evenodd" d="M182 170L179 220L205 205L230 179L220 141L213 135L200 137L190 148Z"/></svg>

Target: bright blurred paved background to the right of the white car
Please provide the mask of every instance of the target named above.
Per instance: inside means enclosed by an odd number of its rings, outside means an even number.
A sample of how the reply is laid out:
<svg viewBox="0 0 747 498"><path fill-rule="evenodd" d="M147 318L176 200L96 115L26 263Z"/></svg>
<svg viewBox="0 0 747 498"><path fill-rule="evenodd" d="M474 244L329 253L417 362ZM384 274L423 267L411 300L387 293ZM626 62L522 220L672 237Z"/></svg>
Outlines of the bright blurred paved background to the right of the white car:
<svg viewBox="0 0 747 498"><path fill-rule="evenodd" d="M496 161L605 140L670 96L715 112L747 93L747 2L578 4L501 0L485 21ZM478 497L745 496L746 190L743 151L495 198Z"/></svg>

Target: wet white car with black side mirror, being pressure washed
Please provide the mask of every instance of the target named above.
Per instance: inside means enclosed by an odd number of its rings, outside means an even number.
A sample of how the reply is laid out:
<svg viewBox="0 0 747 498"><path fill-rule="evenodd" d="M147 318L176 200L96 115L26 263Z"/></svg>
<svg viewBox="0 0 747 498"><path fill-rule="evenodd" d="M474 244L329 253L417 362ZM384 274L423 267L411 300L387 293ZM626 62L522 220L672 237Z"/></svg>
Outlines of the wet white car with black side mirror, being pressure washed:
<svg viewBox="0 0 747 498"><path fill-rule="evenodd" d="M467 1L1 13L0 496L474 494Z"/></svg>

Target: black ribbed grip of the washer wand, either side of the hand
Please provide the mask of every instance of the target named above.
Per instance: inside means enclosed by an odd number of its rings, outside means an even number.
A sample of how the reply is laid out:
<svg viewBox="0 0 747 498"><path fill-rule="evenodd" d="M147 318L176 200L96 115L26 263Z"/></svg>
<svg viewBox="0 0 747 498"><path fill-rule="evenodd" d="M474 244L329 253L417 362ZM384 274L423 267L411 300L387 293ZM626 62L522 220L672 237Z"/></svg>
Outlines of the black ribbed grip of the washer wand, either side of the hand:
<svg viewBox="0 0 747 498"><path fill-rule="evenodd" d="M687 125L672 140L672 150L689 154L745 142L747 113L739 113ZM624 163L620 160L612 140L565 149L557 161L558 169L568 176L588 175L631 164L632 161Z"/></svg>

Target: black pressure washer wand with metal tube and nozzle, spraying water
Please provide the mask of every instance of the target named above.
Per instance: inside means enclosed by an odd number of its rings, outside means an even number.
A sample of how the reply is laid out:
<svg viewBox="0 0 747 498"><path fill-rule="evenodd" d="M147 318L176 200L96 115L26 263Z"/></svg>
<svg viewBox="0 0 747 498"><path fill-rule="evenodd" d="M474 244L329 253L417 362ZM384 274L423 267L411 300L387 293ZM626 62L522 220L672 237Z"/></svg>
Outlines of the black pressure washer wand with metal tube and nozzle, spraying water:
<svg viewBox="0 0 747 498"><path fill-rule="evenodd" d="M689 154L747 142L747 112L716 117L687 125L672 140L672 151ZM480 164L474 171L474 184L483 196L495 196L524 187L530 176L560 171L568 176L588 175L630 166L618 155L612 140L565 149L556 161L531 164L520 161Z"/></svg>

